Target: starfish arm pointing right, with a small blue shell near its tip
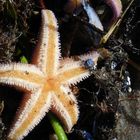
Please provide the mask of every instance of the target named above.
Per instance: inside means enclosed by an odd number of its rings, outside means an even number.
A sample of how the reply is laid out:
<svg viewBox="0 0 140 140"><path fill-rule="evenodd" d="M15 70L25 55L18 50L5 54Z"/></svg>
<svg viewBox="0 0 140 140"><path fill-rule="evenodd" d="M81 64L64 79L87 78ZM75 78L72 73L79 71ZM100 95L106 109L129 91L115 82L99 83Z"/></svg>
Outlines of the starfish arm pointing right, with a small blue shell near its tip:
<svg viewBox="0 0 140 140"><path fill-rule="evenodd" d="M88 55L79 56L78 61L74 61L73 59L63 60L62 68L60 67L59 70L60 81L66 84L76 84L87 78L90 76L90 72L85 68L84 62L87 59L92 59L96 65L98 57L99 54L97 52L92 52Z"/></svg>

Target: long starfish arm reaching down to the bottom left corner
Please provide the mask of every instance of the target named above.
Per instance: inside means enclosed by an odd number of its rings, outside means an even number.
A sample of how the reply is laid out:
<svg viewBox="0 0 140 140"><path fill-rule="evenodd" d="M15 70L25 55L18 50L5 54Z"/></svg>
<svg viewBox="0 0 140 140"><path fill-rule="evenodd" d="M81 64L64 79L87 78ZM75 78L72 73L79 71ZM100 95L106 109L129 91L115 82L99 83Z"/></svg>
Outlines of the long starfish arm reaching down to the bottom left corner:
<svg viewBox="0 0 140 140"><path fill-rule="evenodd" d="M51 94L39 89L19 110L8 138L22 140L45 116L51 106Z"/></svg>

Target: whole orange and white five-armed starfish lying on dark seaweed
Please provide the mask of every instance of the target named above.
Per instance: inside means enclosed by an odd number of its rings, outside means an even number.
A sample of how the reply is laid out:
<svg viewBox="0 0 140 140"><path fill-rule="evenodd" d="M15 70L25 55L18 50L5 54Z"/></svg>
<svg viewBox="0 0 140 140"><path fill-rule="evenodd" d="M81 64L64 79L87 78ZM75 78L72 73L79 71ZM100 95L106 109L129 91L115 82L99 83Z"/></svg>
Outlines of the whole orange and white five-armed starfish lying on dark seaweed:
<svg viewBox="0 0 140 140"><path fill-rule="evenodd" d="M90 75L82 62L97 63L98 53L61 59L57 20L49 10L42 10L42 26L32 64L0 64L0 83L24 90L25 96L8 139L23 139L51 110L70 132L78 119L77 101L69 85Z"/></svg>

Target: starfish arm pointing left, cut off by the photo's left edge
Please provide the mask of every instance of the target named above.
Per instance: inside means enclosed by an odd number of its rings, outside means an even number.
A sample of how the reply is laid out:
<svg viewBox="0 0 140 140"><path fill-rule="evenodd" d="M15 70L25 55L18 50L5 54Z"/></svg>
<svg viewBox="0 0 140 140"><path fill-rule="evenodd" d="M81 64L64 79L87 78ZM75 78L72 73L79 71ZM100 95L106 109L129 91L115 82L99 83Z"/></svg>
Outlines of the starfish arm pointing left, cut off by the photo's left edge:
<svg viewBox="0 0 140 140"><path fill-rule="evenodd" d="M33 90L43 82L43 73L35 66L22 63L0 64L0 83Z"/></svg>

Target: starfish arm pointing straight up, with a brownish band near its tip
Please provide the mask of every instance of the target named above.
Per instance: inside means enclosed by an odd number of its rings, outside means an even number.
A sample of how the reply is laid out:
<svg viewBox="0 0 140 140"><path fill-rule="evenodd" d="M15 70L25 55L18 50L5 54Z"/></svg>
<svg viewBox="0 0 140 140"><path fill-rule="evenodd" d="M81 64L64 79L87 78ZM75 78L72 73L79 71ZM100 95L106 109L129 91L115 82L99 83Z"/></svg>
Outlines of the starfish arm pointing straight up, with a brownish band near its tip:
<svg viewBox="0 0 140 140"><path fill-rule="evenodd" d="M42 10L42 26L32 63L51 76L57 71L60 57L57 20L50 10Z"/></svg>

